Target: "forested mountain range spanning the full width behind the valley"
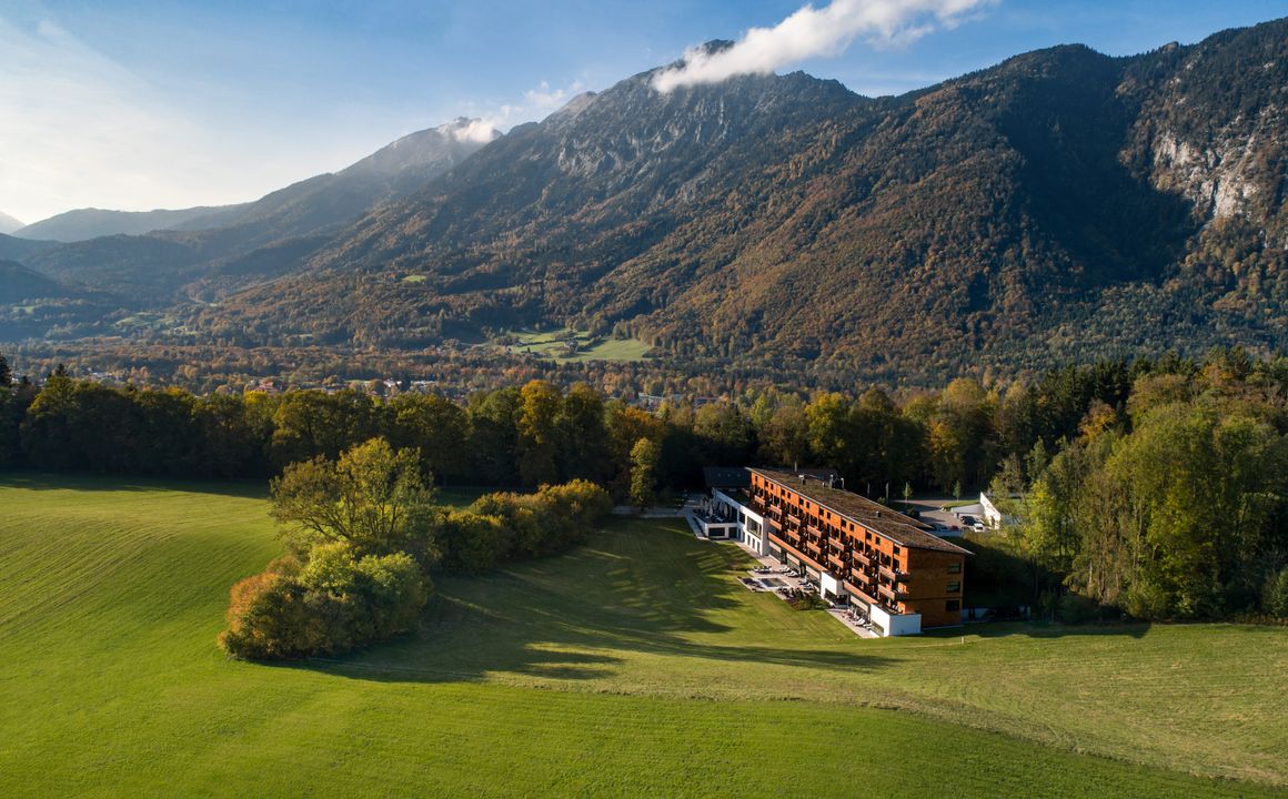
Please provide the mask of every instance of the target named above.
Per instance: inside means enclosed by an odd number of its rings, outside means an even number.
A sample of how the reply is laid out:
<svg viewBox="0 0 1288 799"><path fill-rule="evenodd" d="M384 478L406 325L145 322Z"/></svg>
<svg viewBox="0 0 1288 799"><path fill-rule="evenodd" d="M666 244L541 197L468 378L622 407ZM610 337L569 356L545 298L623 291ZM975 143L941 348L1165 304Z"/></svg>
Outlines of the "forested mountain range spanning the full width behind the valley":
<svg viewBox="0 0 1288 799"><path fill-rule="evenodd" d="M205 229L0 257L247 345L573 324L891 378L1288 345L1285 21L895 98L799 72L659 94L654 72L486 144L415 134Z"/></svg>

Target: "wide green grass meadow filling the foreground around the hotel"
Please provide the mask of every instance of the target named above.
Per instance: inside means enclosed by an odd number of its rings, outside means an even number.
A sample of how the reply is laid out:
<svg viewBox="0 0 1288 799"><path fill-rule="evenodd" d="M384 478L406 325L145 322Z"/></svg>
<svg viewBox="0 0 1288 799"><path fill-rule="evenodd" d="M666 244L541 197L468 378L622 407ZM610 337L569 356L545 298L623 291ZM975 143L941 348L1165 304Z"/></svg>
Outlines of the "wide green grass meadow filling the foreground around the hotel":
<svg viewBox="0 0 1288 799"><path fill-rule="evenodd" d="M0 508L3 796L1288 787L1283 629L859 641L744 591L738 549L627 521L442 579L415 637L265 666L214 646L278 553L260 490L19 476Z"/></svg>

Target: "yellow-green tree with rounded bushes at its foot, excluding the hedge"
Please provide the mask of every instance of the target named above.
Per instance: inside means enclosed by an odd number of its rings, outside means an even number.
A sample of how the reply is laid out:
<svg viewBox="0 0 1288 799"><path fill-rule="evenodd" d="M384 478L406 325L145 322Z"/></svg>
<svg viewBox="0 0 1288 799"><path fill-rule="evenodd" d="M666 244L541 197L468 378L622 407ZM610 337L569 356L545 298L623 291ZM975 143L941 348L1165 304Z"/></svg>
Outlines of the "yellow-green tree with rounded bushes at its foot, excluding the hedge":
<svg viewBox="0 0 1288 799"><path fill-rule="evenodd" d="M232 588L224 651L247 660L339 654L412 628L430 592L431 491L413 450L372 439L272 482L291 553Z"/></svg>

